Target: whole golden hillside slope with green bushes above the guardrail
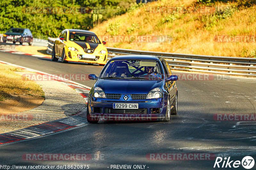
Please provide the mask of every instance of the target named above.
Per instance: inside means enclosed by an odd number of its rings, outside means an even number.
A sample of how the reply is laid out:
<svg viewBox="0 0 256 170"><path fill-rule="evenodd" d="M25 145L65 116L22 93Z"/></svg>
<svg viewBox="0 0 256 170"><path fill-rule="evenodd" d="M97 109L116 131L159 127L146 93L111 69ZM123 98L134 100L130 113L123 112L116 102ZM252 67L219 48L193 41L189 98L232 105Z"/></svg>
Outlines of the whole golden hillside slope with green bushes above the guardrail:
<svg viewBox="0 0 256 170"><path fill-rule="evenodd" d="M210 9L213 10L199 13L188 11L159 12L163 11L163 7L176 7L176 10L179 7L183 7L182 9L211 7ZM255 10L254 0L162 0L148 3L139 9L109 19L95 26L91 31L98 35L111 35L113 37L120 35L166 35L172 37L171 42L161 43L107 42L109 47L172 53L256 57Z"/></svg>

